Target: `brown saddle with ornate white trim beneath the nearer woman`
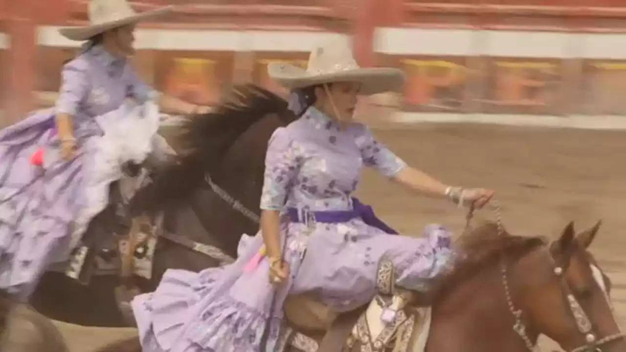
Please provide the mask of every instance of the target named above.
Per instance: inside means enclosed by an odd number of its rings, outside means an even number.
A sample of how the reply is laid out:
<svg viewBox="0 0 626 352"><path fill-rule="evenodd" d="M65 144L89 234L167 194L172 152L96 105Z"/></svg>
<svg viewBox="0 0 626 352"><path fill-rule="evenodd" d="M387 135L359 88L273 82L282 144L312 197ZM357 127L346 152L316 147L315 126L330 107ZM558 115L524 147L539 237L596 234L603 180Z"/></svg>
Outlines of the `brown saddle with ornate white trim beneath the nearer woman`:
<svg viewBox="0 0 626 352"><path fill-rule="evenodd" d="M337 313L312 294L288 296L284 311L287 325L294 331L290 344L305 352L384 351L393 344L394 352L403 352L417 343L415 351L419 351L419 346L425 345L429 324L429 311L420 312L419 307L427 306L429 300L397 289L395 282L393 262L381 259L376 296L354 311Z"/></svg>

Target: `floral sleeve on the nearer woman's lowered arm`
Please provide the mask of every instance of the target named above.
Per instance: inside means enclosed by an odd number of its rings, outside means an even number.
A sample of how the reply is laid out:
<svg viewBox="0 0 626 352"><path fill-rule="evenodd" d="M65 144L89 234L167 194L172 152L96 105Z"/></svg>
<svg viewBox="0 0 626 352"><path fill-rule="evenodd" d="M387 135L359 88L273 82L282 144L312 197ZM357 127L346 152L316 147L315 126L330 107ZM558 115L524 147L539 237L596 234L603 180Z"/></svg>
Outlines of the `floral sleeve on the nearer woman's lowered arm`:
<svg viewBox="0 0 626 352"><path fill-rule="evenodd" d="M302 163L302 151L284 127L275 130L265 156L260 209L281 210Z"/></svg>

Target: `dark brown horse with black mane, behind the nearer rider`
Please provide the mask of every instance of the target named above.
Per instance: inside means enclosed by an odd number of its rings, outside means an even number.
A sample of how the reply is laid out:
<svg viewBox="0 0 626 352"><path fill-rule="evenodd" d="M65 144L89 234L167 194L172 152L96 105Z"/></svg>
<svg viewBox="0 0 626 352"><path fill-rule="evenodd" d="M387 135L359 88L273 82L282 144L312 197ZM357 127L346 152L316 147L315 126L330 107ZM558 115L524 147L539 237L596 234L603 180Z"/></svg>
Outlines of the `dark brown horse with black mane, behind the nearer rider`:
<svg viewBox="0 0 626 352"><path fill-rule="evenodd" d="M156 170L152 183L140 190L130 212L164 212L165 228L172 236L158 241L152 279L138 278L142 291L153 291L165 270L200 271L219 262L203 253L208 244L230 257L236 256L242 234L253 234L258 225L259 199L267 140L277 127L295 120L287 103L262 88L237 86L225 95L212 113L194 116L181 127L180 154ZM208 184L232 195L253 214L233 209ZM105 210L90 225L87 239L126 233L119 224L115 206ZM250 216L253 215L253 216ZM252 218L252 219L250 219ZM101 240L100 240L101 241ZM92 244L98 247L98 241ZM192 249L192 247L194 249ZM215 252L215 249L213 249ZM50 318L86 326L126 326L113 294L120 284L116 275L94 276L88 285L48 272L31 304Z"/></svg>

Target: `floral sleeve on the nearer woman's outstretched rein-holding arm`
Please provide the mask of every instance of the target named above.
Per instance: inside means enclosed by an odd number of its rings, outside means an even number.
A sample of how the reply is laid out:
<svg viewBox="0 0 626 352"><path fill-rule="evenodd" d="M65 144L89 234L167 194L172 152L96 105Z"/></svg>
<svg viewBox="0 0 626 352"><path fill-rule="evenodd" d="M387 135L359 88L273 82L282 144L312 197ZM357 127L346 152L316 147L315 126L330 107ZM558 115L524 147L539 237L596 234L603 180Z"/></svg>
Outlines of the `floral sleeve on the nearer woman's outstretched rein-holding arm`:
<svg viewBox="0 0 626 352"><path fill-rule="evenodd" d="M376 141L366 125L360 125L357 129L356 143L361 150L364 165L376 168L387 177L396 175L406 167L404 160Z"/></svg>

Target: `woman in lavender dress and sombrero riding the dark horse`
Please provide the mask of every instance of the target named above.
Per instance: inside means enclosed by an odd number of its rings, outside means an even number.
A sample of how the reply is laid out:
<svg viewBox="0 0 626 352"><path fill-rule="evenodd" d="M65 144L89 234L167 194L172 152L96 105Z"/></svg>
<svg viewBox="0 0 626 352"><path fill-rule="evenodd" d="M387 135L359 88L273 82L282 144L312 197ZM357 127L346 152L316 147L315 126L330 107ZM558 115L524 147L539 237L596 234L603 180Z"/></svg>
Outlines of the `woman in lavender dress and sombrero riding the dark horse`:
<svg viewBox="0 0 626 352"><path fill-rule="evenodd" d="M157 98L168 111L198 110L157 96L127 60L135 24L170 10L137 14L126 0L92 0L92 25L60 30L86 45L63 66L56 106L0 130L1 290L28 299L49 264L66 261L105 209L121 164L163 154Z"/></svg>

